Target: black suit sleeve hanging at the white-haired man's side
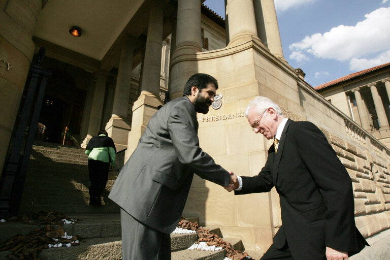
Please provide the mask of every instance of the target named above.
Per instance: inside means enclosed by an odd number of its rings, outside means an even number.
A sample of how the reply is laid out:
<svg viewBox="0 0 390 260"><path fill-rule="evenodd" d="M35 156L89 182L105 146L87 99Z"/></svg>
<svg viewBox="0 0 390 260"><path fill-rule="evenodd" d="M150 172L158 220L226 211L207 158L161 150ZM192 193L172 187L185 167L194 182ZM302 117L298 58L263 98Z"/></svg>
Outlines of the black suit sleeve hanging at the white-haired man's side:
<svg viewBox="0 0 390 260"><path fill-rule="evenodd" d="M355 234L351 179L323 133L310 122L294 131L299 155L316 183L326 206L326 246L352 251Z"/></svg>

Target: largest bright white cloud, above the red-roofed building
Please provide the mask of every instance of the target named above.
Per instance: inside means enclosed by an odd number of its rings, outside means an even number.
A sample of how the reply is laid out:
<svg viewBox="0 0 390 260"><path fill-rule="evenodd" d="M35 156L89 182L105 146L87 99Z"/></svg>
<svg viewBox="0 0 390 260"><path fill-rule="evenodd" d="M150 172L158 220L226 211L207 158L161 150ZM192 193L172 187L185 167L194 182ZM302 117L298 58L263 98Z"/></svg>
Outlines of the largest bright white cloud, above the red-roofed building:
<svg viewBox="0 0 390 260"><path fill-rule="evenodd" d="M339 61L359 59L368 54L388 50L390 7L379 8L366 14L365 18L354 26L339 25L324 34L306 36L302 41L291 44L289 49L292 53L306 52L316 58ZM298 55L291 55L291 59L302 60Z"/></svg>

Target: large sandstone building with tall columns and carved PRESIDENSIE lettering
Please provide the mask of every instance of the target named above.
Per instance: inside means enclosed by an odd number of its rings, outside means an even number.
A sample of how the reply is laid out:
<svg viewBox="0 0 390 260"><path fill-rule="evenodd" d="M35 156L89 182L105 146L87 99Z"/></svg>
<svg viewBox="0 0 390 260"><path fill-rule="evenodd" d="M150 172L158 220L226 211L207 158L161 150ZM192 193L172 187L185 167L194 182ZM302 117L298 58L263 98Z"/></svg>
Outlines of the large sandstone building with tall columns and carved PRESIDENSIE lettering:
<svg viewBox="0 0 390 260"><path fill-rule="evenodd" d="M243 111L254 96L268 96L289 118L312 121L326 134L351 176L362 234L390 227L390 150L298 77L283 57L273 0L225 0L225 30L199 0L46 2L0 0L1 164L39 47L47 49L46 68L58 75L47 96L53 104L69 101L58 107L69 125L78 125L81 145L105 127L126 158L164 104L165 91L178 98L192 74L208 73L219 82L222 105L198 115L199 138L218 164L247 176L264 166L271 143L251 131ZM81 37L68 34L72 25L84 28ZM81 107L76 98L83 95ZM184 215L259 251L281 225L275 190L235 197L198 177Z"/></svg>

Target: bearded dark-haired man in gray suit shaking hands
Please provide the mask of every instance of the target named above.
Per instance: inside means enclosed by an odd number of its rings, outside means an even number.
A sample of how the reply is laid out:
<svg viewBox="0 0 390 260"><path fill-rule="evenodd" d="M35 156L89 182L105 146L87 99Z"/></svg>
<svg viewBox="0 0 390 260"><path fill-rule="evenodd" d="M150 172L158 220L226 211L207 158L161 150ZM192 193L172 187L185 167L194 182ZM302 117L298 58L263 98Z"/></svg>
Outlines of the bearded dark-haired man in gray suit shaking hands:
<svg viewBox="0 0 390 260"><path fill-rule="evenodd" d="M183 212L193 173L221 186L231 175L199 147L197 112L206 114L218 83L195 74L183 97L150 119L109 198L121 207L123 260L171 259L172 233ZM233 184L232 184L233 185Z"/></svg>

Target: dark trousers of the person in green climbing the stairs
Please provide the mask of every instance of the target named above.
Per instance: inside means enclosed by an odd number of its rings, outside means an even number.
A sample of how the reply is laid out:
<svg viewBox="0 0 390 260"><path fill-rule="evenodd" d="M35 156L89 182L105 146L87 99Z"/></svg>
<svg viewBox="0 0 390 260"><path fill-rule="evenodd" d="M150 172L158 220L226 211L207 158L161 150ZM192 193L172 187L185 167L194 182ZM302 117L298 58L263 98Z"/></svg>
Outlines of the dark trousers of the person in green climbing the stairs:
<svg viewBox="0 0 390 260"><path fill-rule="evenodd" d="M108 180L109 163L100 160L88 160L89 171L89 205L101 206L100 196Z"/></svg>

